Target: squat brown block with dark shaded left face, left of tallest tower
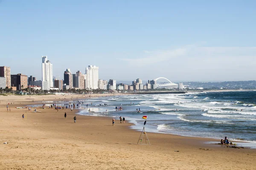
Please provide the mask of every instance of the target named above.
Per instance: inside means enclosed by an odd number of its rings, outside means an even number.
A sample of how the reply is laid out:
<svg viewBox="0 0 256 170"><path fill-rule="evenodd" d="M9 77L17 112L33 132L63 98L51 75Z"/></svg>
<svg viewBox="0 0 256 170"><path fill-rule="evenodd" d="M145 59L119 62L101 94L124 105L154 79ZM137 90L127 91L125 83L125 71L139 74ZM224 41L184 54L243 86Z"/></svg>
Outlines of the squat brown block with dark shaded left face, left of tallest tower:
<svg viewBox="0 0 256 170"><path fill-rule="evenodd" d="M28 76L23 74L13 74L11 75L12 85L17 88L17 90L21 90L22 88L28 87Z"/></svg>

